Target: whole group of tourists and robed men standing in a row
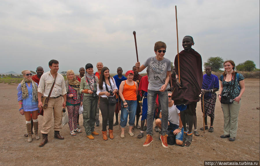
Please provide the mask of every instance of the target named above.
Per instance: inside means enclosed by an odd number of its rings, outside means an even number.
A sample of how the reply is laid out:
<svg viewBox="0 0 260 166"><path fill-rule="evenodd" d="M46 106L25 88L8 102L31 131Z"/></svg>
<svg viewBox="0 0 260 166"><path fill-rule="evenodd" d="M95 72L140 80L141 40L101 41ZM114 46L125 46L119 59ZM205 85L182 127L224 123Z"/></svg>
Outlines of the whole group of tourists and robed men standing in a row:
<svg viewBox="0 0 260 166"><path fill-rule="evenodd" d="M79 108L83 106L83 126L88 139L93 140L94 136L99 135L95 131L95 125L99 126L99 109L102 114L103 139L108 140L107 125L109 138L114 139L113 126L119 124L118 115L121 110L121 138L125 137L128 121L128 134L134 136L132 130L141 129L137 138L142 138L146 130L143 146L149 146L153 141L153 121L156 119L156 127L161 130L160 140L163 147L168 147L169 128L175 135L177 145L189 146L192 141L193 124L195 126L197 123L197 102L201 100L202 110L205 111L205 126L200 129L205 128L213 132L216 98L222 102L222 96L225 97L227 94L233 100L228 104L223 102L221 104L224 114L224 134L220 137L228 137L230 141L235 141L240 100L245 90L244 77L234 71L235 64L231 60L224 62L225 71L219 79L211 74L211 66L205 67L206 74L203 75L201 56L191 48L192 45L194 45L193 38L185 36L182 40L184 50L176 55L172 74L171 62L164 57L166 44L161 41L154 45L156 56L148 58L142 65L137 62L132 70L126 72L126 77L122 75L121 67L117 68L117 75L111 77L109 69L101 62L97 63L98 71L95 73L90 63L86 64L85 69L80 68L79 76L75 75L73 70L68 70L66 81L58 73L57 60L49 62L50 71L46 73L43 73L42 67L36 69L37 75L34 76L29 70L22 71L24 79L17 87L18 103L19 112L25 115L28 141L32 141L32 126L35 139L39 139L38 115L41 114L43 139L39 146L42 147L48 142L52 113L54 138L64 139L59 132L62 128L62 108L66 106L70 134L75 136L76 132L82 132L78 119ZM146 67L147 76L142 77L138 72ZM218 90L217 95L215 92ZM116 115L115 123L114 115ZM207 116L211 117L209 127Z"/></svg>

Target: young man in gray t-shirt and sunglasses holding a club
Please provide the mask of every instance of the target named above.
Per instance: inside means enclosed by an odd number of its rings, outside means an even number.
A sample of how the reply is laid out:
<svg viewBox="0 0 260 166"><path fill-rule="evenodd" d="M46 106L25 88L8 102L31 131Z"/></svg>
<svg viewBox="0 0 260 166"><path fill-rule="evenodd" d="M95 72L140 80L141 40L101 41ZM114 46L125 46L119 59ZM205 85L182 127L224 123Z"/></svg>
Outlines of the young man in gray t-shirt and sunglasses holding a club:
<svg viewBox="0 0 260 166"><path fill-rule="evenodd" d="M153 141L152 128L154 120L154 104L158 95L162 110L162 135L160 137L163 147L167 145L167 127L168 127L168 94L165 91L169 88L169 75L171 72L171 61L164 58L166 52L166 44L158 41L154 45L155 57L148 58L142 66L137 62L135 66L137 71L141 72L148 67L148 95L147 95L147 136L143 146L148 146Z"/></svg>

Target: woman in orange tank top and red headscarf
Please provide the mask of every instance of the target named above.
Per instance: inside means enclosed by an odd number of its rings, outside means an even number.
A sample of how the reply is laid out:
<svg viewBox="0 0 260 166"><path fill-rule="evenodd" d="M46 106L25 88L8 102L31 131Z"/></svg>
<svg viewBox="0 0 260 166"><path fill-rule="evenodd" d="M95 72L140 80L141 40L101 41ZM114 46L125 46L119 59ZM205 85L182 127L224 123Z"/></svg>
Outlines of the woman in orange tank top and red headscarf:
<svg viewBox="0 0 260 166"><path fill-rule="evenodd" d="M138 95L138 84L133 81L134 71L129 70L126 72L127 80L122 81L119 86L119 96L122 99L121 105L121 138L125 138L125 127L127 123L127 117L129 114L129 131L130 136L134 136L132 128L134 126L135 114L137 110L137 95Z"/></svg>

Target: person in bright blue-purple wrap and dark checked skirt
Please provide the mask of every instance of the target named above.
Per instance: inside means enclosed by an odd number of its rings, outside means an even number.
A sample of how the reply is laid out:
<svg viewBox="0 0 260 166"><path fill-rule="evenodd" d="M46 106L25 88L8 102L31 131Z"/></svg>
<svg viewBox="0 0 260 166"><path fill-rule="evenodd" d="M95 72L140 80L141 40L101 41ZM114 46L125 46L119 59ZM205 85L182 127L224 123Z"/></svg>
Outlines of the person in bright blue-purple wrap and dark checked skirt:
<svg viewBox="0 0 260 166"><path fill-rule="evenodd" d="M201 90L201 110L203 112L203 99L204 99L204 119L205 129L209 128L209 132L213 132L213 121L215 117L215 104L217 100L217 94L215 93L219 89L219 81L216 75L211 74L212 67L205 67L206 74L203 75L202 90ZM210 126L208 127L207 116L210 117ZM204 130L204 128L200 128ZM194 131L195 133L195 131Z"/></svg>

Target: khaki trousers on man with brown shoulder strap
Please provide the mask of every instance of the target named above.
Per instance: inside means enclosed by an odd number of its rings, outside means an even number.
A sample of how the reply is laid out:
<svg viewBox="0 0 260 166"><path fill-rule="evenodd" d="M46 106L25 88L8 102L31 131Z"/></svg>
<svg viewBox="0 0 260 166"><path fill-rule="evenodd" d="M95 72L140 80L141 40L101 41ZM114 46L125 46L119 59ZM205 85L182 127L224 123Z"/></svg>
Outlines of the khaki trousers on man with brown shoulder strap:
<svg viewBox="0 0 260 166"><path fill-rule="evenodd" d="M45 97L42 98L42 102L45 102ZM62 119L62 96L58 98L49 98L48 107L43 109L43 125L42 130L43 134L48 134L51 128L51 119L52 113L54 117L54 131L60 131L62 128L61 119Z"/></svg>

